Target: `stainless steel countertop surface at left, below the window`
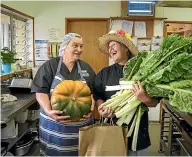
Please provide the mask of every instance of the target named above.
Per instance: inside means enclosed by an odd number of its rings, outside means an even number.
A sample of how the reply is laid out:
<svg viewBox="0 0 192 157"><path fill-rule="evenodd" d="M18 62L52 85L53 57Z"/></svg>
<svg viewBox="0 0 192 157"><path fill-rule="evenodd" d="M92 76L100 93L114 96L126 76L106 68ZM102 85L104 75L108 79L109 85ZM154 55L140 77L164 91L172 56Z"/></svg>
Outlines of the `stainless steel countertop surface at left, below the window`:
<svg viewBox="0 0 192 157"><path fill-rule="evenodd" d="M35 94L12 94L17 97L17 101L2 102L1 104L1 124L14 118L19 112L27 109L36 102Z"/></svg>

